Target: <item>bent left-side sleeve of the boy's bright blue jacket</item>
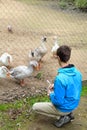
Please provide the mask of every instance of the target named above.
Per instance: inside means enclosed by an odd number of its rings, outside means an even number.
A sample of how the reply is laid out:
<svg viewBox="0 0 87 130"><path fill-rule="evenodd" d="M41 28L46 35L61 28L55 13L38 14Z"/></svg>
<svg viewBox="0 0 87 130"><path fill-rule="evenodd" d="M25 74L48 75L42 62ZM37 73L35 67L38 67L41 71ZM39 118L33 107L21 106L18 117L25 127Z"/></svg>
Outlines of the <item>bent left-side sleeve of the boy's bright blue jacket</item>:
<svg viewBox="0 0 87 130"><path fill-rule="evenodd" d="M54 91L50 93L50 100L54 105L62 105L64 103L65 88L58 77L54 81Z"/></svg>

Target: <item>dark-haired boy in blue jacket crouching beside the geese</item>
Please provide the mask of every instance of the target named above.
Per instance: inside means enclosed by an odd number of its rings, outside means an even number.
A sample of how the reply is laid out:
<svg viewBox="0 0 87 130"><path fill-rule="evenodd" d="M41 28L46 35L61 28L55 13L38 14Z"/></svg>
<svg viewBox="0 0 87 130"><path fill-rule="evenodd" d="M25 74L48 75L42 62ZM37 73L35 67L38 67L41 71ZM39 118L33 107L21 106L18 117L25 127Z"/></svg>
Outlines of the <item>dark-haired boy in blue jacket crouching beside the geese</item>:
<svg viewBox="0 0 87 130"><path fill-rule="evenodd" d="M60 117L54 122L56 127L74 119L74 111L80 101L82 89L82 75L73 64L69 63L71 48L62 45L57 49L57 59L60 65L54 84L49 86L48 96L51 102L40 102L33 105L37 113L51 117Z"/></svg>

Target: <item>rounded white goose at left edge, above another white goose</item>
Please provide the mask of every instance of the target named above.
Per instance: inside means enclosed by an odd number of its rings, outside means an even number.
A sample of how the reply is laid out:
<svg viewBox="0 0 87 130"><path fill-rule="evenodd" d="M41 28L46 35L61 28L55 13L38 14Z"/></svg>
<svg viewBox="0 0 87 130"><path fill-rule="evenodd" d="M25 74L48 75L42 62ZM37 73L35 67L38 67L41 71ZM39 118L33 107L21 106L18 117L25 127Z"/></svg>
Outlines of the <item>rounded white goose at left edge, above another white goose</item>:
<svg viewBox="0 0 87 130"><path fill-rule="evenodd" d="M8 67L8 68L9 68L9 66L11 65L12 61L13 61L12 56L11 56L9 53L7 53L7 52L3 53L3 54L0 56L0 62L1 62L4 66L6 66L6 67Z"/></svg>

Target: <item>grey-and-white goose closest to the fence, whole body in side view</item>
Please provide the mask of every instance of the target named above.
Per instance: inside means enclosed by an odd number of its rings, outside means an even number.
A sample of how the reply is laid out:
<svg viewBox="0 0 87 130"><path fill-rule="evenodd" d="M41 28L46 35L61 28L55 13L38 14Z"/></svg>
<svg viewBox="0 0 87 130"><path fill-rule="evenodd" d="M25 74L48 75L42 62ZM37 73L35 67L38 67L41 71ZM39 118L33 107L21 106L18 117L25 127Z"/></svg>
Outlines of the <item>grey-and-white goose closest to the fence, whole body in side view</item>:
<svg viewBox="0 0 87 130"><path fill-rule="evenodd" d="M10 77L18 80L21 86L25 86L25 78L32 75L34 69L38 70L38 62L33 60L29 62L29 65L20 65L10 69Z"/></svg>

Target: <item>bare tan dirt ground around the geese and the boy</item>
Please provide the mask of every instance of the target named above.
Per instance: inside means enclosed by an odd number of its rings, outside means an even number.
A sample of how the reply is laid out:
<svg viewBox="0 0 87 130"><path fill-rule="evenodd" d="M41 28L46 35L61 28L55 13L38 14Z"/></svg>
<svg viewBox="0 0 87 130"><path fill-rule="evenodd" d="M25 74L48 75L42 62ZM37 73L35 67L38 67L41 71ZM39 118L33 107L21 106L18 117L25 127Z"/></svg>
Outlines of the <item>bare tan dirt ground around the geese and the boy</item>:
<svg viewBox="0 0 87 130"><path fill-rule="evenodd" d="M12 26L13 33L8 32L8 25ZM0 0L0 55L4 52L12 55L11 67L27 65L30 48L39 46L43 35L47 36L48 53L43 58L41 70L35 71L31 77L25 79L25 87L21 87L13 79L0 79L0 103L45 91L46 80L49 79L52 82L59 67L57 60L51 58L55 35L58 36L59 45L67 44L72 47L70 62L82 72L83 80L87 79L87 13L61 10L54 1L32 1L27 5L16 0ZM38 73L41 73L40 80L35 78ZM62 130L72 130L76 126L79 130L87 129L86 98L82 98L81 104L79 111L81 109L83 115L78 111L76 113L78 121L69 124ZM26 130L54 129L53 125L49 125L53 121L49 118L36 118L35 121L36 127L32 127L31 123ZM40 124L40 127L35 123Z"/></svg>

